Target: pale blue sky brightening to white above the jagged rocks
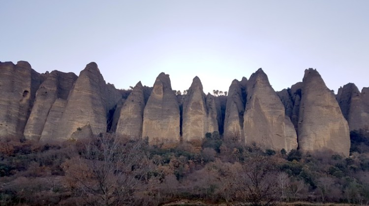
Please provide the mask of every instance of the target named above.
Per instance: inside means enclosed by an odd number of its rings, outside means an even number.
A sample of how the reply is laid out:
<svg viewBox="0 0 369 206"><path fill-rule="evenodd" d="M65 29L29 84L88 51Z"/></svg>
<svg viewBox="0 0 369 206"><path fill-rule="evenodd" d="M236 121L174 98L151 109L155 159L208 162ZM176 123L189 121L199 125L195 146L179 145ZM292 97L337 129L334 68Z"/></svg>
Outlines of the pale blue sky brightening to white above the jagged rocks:
<svg viewBox="0 0 369 206"><path fill-rule="evenodd" d="M106 82L205 93L263 68L276 91L315 68L335 90L369 86L369 0L0 0L0 61Z"/></svg>

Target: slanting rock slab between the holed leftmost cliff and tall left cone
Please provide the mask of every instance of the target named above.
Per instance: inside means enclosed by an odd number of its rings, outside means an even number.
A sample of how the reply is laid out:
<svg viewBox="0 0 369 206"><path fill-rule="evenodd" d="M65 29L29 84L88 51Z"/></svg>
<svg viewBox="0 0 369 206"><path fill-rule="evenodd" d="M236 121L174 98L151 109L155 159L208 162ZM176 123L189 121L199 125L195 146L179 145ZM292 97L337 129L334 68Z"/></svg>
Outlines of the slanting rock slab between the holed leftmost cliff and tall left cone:
<svg viewBox="0 0 369 206"><path fill-rule="evenodd" d="M36 92L31 115L24 131L26 139L38 141L49 111L58 98L66 100L73 83L77 79L74 73L51 72Z"/></svg>

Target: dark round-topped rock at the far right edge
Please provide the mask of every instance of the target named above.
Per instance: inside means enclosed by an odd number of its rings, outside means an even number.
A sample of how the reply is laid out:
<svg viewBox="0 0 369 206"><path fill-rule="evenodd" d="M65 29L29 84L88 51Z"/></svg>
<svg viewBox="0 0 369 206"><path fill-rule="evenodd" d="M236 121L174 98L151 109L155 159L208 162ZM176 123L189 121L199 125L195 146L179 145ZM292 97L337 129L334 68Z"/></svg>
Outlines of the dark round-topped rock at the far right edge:
<svg viewBox="0 0 369 206"><path fill-rule="evenodd" d="M363 91L360 93L353 83L338 89L337 101L350 130L369 128L369 103L365 99L365 88Z"/></svg>

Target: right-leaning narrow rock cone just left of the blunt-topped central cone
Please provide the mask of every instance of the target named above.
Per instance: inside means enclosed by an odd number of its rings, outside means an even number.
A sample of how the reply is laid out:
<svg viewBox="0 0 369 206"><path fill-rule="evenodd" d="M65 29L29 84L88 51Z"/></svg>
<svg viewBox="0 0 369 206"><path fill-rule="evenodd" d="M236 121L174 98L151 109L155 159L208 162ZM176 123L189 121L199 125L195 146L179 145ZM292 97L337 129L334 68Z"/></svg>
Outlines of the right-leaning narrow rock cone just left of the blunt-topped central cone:
<svg viewBox="0 0 369 206"><path fill-rule="evenodd" d="M136 84L120 112L116 133L137 139L142 137L142 123L145 108L141 81Z"/></svg>

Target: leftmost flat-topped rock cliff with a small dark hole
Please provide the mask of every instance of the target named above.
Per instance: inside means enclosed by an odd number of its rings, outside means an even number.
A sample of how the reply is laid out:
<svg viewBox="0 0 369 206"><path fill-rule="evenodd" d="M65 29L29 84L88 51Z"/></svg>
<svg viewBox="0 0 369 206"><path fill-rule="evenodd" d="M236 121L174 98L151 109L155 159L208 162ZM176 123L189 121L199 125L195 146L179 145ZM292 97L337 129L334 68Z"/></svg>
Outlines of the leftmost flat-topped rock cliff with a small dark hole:
<svg viewBox="0 0 369 206"><path fill-rule="evenodd" d="M23 138L40 74L26 61L0 62L0 138Z"/></svg>

